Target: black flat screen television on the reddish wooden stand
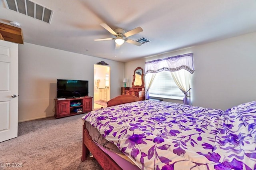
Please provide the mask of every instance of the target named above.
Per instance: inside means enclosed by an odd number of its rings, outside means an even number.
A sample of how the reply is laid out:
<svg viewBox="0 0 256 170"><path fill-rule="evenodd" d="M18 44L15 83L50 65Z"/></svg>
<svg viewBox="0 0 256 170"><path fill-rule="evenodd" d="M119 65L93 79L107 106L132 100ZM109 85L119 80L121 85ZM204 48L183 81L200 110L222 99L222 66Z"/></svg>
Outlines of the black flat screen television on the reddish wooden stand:
<svg viewBox="0 0 256 170"><path fill-rule="evenodd" d="M57 98L88 96L88 80L57 79Z"/></svg>

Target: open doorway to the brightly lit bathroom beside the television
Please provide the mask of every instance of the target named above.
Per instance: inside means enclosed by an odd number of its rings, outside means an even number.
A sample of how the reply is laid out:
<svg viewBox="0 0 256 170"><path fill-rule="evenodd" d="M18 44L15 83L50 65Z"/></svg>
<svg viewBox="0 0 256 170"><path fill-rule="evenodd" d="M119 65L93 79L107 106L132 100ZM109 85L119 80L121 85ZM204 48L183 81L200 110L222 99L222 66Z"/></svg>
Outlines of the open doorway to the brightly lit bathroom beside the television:
<svg viewBox="0 0 256 170"><path fill-rule="evenodd" d="M110 100L110 66L94 64L94 109L107 106Z"/></svg>

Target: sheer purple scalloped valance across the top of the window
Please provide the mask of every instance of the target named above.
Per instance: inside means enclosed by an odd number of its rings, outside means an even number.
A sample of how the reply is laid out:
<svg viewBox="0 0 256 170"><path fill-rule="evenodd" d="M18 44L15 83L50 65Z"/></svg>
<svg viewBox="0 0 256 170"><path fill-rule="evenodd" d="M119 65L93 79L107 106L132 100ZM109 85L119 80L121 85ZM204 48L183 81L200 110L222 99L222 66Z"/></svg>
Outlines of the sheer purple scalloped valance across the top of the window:
<svg viewBox="0 0 256 170"><path fill-rule="evenodd" d="M191 74L194 73L193 53L145 62L145 74L163 70L178 71L180 69L185 69Z"/></svg>

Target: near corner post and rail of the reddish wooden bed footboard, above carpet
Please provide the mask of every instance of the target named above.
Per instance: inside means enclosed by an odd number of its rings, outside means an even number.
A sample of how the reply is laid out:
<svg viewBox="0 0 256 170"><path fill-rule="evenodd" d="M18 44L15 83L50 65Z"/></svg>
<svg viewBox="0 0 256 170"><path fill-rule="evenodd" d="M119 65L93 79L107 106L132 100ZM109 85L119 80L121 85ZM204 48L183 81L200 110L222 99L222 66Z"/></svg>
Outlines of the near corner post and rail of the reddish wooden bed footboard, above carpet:
<svg viewBox="0 0 256 170"><path fill-rule="evenodd" d="M90 149L88 149L90 148ZM83 125L83 145L82 145L82 158L81 160L86 160L89 153L92 153L94 158L98 161L100 166L104 170L122 170L116 162L108 154L102 151L93 141L91 136L89 135L88 130L86 129L86 125Z"/></svg>

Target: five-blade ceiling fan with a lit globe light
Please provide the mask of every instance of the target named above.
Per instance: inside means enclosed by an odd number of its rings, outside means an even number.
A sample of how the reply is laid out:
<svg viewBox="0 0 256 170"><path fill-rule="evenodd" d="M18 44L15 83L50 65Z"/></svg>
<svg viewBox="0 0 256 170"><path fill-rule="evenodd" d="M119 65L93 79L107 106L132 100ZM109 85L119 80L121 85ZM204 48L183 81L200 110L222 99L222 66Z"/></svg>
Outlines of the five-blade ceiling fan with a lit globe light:
<svg viewBox="0 0 256 170"><path fill-rule="evenodd" d="M103 28L108 30L112 35L116 36L116 38L100 38L100 39L94 39L94 41L105 41L105 40L115 40L116 42L116 48L120 47L124 42L128 42L134 45L142 45L142 43L136 42L134 40L128 39L127 37L130 37L134 34L138 34L139 32L142 32L142 28L137 27L133 30L130 30L128 32L125 32L122 28L116 28L115 30L112 30L107 24L102 23L100 24Z"/></svg>

